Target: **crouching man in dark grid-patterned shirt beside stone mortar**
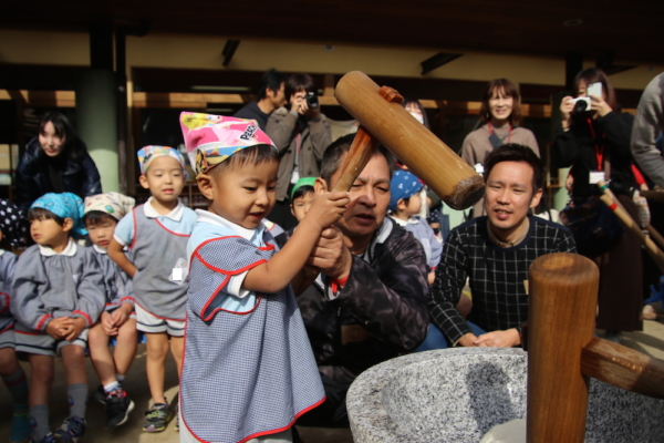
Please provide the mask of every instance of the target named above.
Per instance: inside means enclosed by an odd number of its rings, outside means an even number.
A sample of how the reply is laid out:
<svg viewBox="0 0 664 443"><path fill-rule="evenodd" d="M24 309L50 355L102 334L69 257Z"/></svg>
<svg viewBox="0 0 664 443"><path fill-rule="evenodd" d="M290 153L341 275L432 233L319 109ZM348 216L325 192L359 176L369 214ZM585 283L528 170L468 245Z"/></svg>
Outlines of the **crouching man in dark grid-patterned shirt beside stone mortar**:
<svg viewBox="0 0 664 443"><path fill-rule="evenodd" d="M551 253L574 253L570 231L528 215L542 196L542 165L527 146L510 143L486 158L486 216L453 229L429 292L432 348L513 347L528 319L528 267ZM473 310L456 303L469 277ZM439 336L443 331L446 340Z"/></svg>

